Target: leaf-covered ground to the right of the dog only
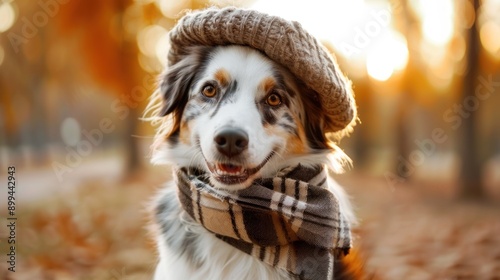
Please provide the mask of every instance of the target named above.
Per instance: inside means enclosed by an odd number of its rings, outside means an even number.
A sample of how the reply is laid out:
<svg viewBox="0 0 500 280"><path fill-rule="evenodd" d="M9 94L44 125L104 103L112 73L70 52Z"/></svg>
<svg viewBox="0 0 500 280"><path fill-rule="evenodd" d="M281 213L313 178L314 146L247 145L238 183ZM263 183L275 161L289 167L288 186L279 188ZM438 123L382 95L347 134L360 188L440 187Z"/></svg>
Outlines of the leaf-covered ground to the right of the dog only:
<svg viewBox="0 0 500 280"><path fill-rule="evenodd" d="M500 279L498 200L459 200L442 184L351 182L357 244L376 279Z"/></svg>

